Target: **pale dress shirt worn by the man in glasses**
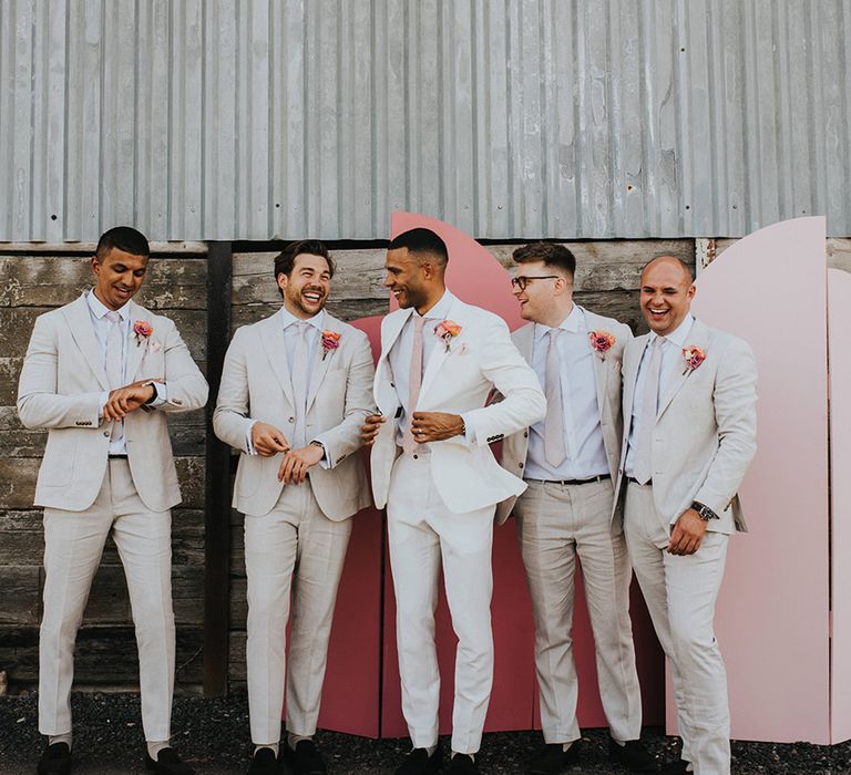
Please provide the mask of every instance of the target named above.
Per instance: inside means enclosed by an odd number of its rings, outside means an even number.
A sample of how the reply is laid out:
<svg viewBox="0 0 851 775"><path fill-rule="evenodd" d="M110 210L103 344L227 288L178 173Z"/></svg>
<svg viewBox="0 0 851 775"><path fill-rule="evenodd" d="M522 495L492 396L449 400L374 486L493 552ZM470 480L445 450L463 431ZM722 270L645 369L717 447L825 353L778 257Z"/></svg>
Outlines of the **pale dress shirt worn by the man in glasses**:
<svg viewBox="0 0 851 775"><path fill-rule="evenodd" d="M564 420L564 448L567 453L560 466L553 466L544 454L544 420L530 428L529 452L523 477L526 479L591 479L608 474L608 458L599 425L599 406L594 378L594 352L588 341L585 311L573 306L558 328L564 332L556 342L561 360L560 386ZM546 353L550 327L535 323L532 368L543 388L546 383Z"/></svg>

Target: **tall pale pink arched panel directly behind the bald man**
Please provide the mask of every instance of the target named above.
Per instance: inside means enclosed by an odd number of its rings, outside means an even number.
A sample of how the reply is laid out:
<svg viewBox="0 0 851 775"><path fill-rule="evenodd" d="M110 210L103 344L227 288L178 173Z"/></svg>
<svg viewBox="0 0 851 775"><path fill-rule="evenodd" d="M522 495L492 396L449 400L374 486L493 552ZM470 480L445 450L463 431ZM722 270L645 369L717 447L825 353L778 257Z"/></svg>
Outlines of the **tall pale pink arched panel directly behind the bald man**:
<svg viewBox="0 0 851 775"><path fill-rule="evenodd" d="M750 342L759 365L758 452L740 493L750 533L730 539L716 616L739 740L832 736L824 229L798 218L739 240L700 275L693 304Z"/></svg>

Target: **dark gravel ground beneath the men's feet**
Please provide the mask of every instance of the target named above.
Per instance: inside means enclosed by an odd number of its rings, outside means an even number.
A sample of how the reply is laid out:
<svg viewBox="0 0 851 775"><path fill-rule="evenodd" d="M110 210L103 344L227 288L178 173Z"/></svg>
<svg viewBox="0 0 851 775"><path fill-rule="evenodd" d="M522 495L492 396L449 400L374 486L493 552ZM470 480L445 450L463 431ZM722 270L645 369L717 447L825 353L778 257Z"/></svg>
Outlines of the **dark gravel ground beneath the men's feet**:
<svg viewBox="0 0 851 775"><path fill-rule="evenodd" d="M75 693L74 773L115 775L145 772L139 696L135 694ZM172 716L172 741L198 773L232 775L247 769L250 756L248 707L244 693L223 700L176 698ZM645 730L645 740L662 761L676 757L676 738L662 730ZM330 775L385 775L409 750L407 740L373 741L336 732L320 732L317 742ZM486 734L482 743L481 771L488 775L521 775L531 752L541 743L533 732ZM449 744L443 740L444 751ZM605 730L583 731L583 757L576 773L625 772L606 758ZM43 746L37 731L34 695L0 698L0 774L35 772ZM732 772L810 775L851 774L851 743L835 746L734 743Z"/></svg>

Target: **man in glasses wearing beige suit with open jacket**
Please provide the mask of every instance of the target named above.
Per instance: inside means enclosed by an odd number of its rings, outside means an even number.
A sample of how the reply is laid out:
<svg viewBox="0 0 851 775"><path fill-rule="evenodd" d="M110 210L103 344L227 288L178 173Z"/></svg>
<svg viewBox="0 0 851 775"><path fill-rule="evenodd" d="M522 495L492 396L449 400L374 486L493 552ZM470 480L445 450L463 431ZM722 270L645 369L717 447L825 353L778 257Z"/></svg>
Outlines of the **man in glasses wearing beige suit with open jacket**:
<svg viewBox="0 0 851 775"><path fill-rule="evenodd" d="M642 698L629 621L632 569L621 515L613 515L621 463L621 359L633 338L612 318L573 303L576 259L563 245L517 248L512 280L521 316L512 335L546 395L546 416L503 442L502 465L529 488L496 509L514 512L535 619L535 664L544 750L533 775L578 762L578 680L573 659L574 578L582 561L597 654L597 680L611 728L609 758L633 772L656 761L639 741Z"/></svg>

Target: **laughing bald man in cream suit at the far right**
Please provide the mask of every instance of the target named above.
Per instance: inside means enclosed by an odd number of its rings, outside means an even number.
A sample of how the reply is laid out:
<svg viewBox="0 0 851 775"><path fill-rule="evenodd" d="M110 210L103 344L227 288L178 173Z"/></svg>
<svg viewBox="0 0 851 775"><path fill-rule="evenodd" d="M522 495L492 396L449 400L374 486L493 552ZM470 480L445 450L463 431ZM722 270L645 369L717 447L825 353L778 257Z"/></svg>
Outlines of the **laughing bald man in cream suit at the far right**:
<svg viewBox="0 0 851 775"><path fill-rule="evenodd" d="M663 772L725 775L730 720L712 619L728 538L746 529L736 493L757 447L757 365L746 342L695 320L694 296L679 259L645 267L650 332L624 353L616 493L623 485L629 559L671 666L683 755Z"/></svg>

